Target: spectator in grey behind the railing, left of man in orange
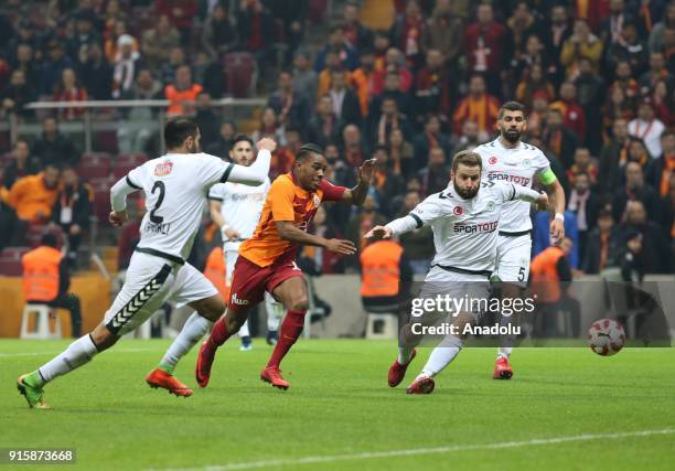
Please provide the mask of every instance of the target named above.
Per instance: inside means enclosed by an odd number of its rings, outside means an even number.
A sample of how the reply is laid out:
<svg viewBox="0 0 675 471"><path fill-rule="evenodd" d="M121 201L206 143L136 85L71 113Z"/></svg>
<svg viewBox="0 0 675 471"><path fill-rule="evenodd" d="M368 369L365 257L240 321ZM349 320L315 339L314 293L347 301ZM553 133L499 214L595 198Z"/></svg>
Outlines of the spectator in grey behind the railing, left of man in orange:
<svg viewBox="0 0 675 471"><path fill-rule="evenodd" d="M120 99L148 100L162 96L162 87L152 76L149 68L138 71L133 88L121 95ZM156 111L149 107L137 106L129 108L117 128L117 147L120 152L144 152L154 129Z"/></svg>

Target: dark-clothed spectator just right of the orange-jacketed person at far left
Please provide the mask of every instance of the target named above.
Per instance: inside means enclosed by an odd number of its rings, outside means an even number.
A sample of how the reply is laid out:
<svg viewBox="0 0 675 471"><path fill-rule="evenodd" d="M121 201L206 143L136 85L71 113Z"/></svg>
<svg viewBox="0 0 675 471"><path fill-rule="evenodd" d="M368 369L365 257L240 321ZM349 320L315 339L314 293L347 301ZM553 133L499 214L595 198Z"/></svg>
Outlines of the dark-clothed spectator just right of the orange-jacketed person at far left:
<svg viewBox="0 0 675 471"><path fill-rule="evenodd" d="M61 171L61 191L52 210L52 222L58 225L68 237L67 265L71 270L77 267L77 249L83 233L89 227L94 190L81 182L73 167Z"/></svg>

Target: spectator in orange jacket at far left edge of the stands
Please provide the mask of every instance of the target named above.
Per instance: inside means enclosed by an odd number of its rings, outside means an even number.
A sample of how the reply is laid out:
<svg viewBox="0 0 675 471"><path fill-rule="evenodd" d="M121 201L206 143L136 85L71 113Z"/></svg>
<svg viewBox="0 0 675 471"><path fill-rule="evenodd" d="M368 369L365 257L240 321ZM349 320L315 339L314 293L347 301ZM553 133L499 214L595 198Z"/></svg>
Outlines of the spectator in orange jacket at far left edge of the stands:
<svg viewBox="0 0 675 471"><path fill-rule="evenodd" d="M43 171L17 180L8 195L8 204L19 220L45 224L58 194L58 168L47 163Z"/></svg>

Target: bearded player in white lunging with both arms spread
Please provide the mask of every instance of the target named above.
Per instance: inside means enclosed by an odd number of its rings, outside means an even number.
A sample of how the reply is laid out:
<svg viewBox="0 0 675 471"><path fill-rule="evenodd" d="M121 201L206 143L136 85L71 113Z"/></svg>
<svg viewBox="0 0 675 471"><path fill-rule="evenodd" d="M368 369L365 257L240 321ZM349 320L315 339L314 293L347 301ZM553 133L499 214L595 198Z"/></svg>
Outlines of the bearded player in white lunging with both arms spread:
<svg viewBox="0 0 675 471"><path fill-rule="evenodd" d="M506 182L481 182L481 168L478 153L459 152L452 161L452 185L428 196L407 216L386 226L376 226L366 234L366 237L389 238L424 225L431 227L436 256L418 299L426 301L449 296L459 300L467 297L472 300L471 306L474 306L474 301L488 300L502 207L515 200L537 203L539 207L546 207L548 203L545 193L525 186ZM429 394L433 390L433 376L457 356L462 346L463 327L475 322L479 315L480 312L474 309L453 313L452 324L457 325L458 333L449 332L442 346L433 349L421 374L407 388L408 394ZM392 387L400 384L415 357L416 351L411 342L406 340L410 329L413 334L419 333L413 323L401 329L398 358L388 374Z"/></svg>

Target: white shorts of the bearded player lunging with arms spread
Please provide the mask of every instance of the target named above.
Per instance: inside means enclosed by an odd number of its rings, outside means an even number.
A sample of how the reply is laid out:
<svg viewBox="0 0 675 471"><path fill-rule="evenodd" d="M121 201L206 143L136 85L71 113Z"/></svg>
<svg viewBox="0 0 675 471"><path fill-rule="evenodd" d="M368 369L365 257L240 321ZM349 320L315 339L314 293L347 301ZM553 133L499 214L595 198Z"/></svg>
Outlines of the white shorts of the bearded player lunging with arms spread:
<svg viewBox="0 0 675 471"><path fill-rule="evenodd" d="M433 266L425 277L419 298L435 299L437 296L463 300L461 311L478 319L483 311L481 308L490 300L490 280L486 275L461 274Z"/></svg>

